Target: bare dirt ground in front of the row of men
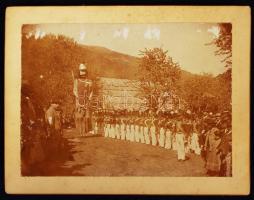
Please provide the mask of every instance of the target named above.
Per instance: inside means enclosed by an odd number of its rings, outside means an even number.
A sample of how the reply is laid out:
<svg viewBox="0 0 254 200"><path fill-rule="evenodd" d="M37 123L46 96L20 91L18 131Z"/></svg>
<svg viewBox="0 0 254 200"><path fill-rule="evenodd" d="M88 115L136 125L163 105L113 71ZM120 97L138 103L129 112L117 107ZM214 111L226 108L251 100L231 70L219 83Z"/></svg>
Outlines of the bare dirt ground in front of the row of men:
<svg viewBox="0 0 254 200"><path fill-rule="evenodd" d="M101 135L79 137L75 129L64 130L63 137L68 148L44 165L43 175L206 176L202 158L194 154L179 162L176 151L158 146Z"/></svg>

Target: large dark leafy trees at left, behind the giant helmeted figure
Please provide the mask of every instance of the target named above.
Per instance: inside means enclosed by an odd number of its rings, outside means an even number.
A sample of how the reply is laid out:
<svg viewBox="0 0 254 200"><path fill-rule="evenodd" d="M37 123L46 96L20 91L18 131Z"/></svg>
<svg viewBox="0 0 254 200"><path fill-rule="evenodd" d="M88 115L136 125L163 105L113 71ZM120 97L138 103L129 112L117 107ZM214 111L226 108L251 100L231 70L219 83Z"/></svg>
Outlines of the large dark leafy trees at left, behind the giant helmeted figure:
<svg viewBox="0 0 254 200"><path fill-rule="evenodd" d="M29 82L36 100L43 107L47 107L51 100L57 100L62 103L65 114L72 114L75 105L72 71L78 71L80 63L87 63L87 50L63 35L47 34L35 38L33 26L22 28L22 82ZM33 34L27 37L30 32ZM96 84L98 72L96 67L88 67L95 95L99 90Z"/></svg>

